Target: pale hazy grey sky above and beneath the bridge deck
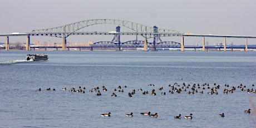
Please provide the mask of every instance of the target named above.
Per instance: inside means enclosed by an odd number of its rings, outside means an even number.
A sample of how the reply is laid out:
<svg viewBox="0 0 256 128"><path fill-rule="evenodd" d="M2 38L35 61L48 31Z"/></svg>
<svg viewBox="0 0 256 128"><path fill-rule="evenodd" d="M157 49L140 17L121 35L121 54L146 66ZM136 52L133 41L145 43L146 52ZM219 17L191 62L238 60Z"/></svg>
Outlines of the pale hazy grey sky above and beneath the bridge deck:
<svg viewBox="0 0 256 128"><path fill-rule="evenodd" d="M255 0L0 0L0 33L27 33L88 19L120 19L181 33L256 36L255 5ZM67 41L111 41L113 37L70 36ZM121 37L121 42L122 39L135 40L135 37ZM31 37L31 42L36 40L62 42L56 37ZM181 37L162 40L180 42ZM9 41L26 42L26 37L9 37ZM185 45L202 41L201 37L184 39ZM224 39L208 37L205 41L213 45ZM0 42L5 42L5 37L0 37ZM239 45L245 39L228 38L227 43L231 42ZM256 40L248 39L248 44L256 44Z"/></svg>

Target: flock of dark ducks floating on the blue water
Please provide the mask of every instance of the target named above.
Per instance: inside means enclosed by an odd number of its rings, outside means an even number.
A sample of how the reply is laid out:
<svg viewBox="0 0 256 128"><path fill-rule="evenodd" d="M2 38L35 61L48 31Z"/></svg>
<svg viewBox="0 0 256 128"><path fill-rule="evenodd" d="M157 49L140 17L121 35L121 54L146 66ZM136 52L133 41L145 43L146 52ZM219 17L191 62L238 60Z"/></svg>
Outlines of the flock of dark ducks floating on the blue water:
<svg viewBox="0 0 256 128"><path fill-rule="evenodd" d="M225 95L228 95L229 93L235 93L238 91L242 91L244 93L256 93L255 88L254 88L254 84L251 86L246 86L243 84L240 84L238 86L230 86L228 84L224 85L224 89L220 89L222 88L220 85L217 85L216 83L213 83L213 85L210 85L209 83L203 83L203 84L193 84L193 83L183 83L182 85L179 85L178 83L173 83L173 85L169 84L168 86L162 86L160 88L158 88L159 91L155 90L155 85L154 84L149 84L147 85L149 87L152 87L151 90L144 90L142 88L136 88L136 89L132 89L132 90L127 90L127 86L123 86L121 87L120 85L117 86L116 88L114 88L114 90L109 90L107 89L105 86L102 87L93 87L91 89L87 89L86 87L81 87L78 86L77 88L71 87L69 90L67 89L67 87L62 88L61 90L63 91L69 91L69 92L76 92L76 93L95 93L96 96L102 96L101 92L110 92L107 93L109 94L109 96L112 97L118 97L118 95L125 95L127 94L127 96L132 97L134 95L171 95L173 93L186 93L188 95L195 95L195 94L206 94L206 95L218 95L219 93L223 93ZM51 89L46 88L46 91L56 91L55 88ZM37 91L43 91L41 88L38 88ZM158 92L158 93L157 93ZM118 95L117 95L118 93ZM104 93L105 95L105 93ZM251 110L245 110L245 113L250 114ZM150 117L157 117L157 113L155 114L151 114L151 112L141 112L141 115L147 115ZM101 114L100 116L102 117L110 117L111 112L108 112L106 114ZM130 114L125 114L127 117L133 117L133 113L131 112ZM184 116L184 119L192 119L193 114L190 114L189 116ZM224 113L219 114L219 117L225 117ZM181 119L181 114L179 114L179 116L174 116L174 119Z"/></svg>

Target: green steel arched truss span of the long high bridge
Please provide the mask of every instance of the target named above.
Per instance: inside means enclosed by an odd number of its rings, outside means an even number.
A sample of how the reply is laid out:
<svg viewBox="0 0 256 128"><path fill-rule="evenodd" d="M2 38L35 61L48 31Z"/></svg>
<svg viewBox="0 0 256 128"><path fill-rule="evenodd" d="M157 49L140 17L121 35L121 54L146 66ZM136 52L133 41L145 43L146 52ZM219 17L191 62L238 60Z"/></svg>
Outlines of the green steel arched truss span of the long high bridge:
<svg viewBox="0 0 256 128"><path fill-rule="evenodd" d="M141 35L145 38L183 35L182 33L176 30L159 29L156 26L149 27L143 24L130 22L130 21L123 21L119 19L90 19L86 21L66 24L64 26L59 26L59 27L35 29L35 30L32 30L29 33L29 35L53 36L53 37L60 37L60 38L67 38L70 35L117 35L117 33L115 32L83 32L81 31L85 27L95 26L97 24L115 24L116 26L122 26L130 30L129 32L119 32L118 33L119 35Z"/></svg>

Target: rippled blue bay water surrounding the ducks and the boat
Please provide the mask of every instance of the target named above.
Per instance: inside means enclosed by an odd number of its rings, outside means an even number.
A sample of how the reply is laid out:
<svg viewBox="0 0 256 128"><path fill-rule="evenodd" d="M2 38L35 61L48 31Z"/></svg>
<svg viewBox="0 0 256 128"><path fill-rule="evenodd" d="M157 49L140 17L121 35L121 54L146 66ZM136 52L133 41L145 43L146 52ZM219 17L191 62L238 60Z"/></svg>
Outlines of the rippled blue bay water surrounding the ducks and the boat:
<svg viewBox="0 0 256 128"><path fill-rule="evenodd" d="M38 52L47 52L49 59L23 61L26 54ZM256 89L256 52L1 51L0 68L0 127L256 126L255 114L244 113L255 107L255 93L240 88L223 93L231 89L226 83ZM186 93L191 86L186 92L169 93L169 84L181 88L184 82L201 88L194 95ZM208 95L204 83L220 85L219 95ZM119 85L123 93L114 91ZM78 86L86 87L85 93L68 91ZM49 87L56 91L46 91ZM89 92L95 87L100 87L101 96ZM139 88L149 94L142 95ZM151 95L153 88L156 96ZM111 97L113 92L117 97ZM148 111L159 116L140 115ZM110 117L100 116L107 112ZM131 112L134 117L125 116ZM219 117L223 112L225 117ZM192 120L174 119L190 113Z"/></svg>

